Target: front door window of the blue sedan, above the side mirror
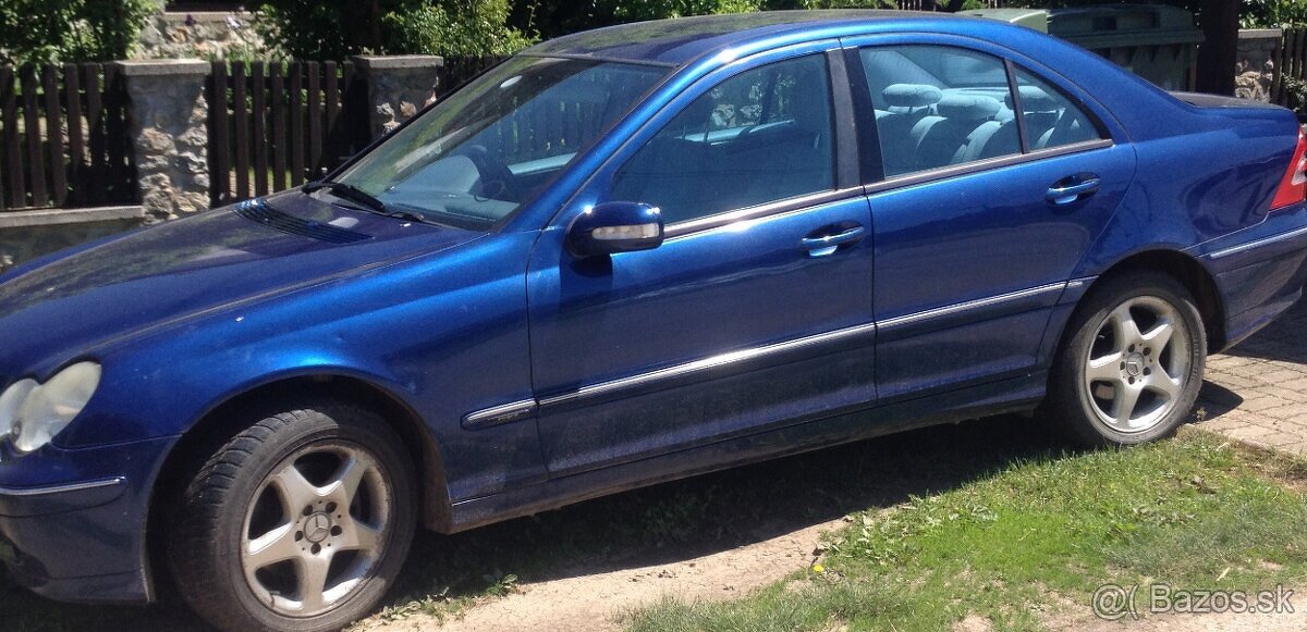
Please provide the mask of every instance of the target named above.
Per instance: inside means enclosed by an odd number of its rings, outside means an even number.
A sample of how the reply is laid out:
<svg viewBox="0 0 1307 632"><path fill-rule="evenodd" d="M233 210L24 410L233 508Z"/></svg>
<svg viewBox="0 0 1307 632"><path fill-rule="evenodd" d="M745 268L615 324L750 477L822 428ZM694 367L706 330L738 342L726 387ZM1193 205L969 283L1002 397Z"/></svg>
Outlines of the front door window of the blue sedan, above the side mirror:
<svg viewBox="0 0 1307 632"><path fill-rule="evenodd" d="M830 81L810 55L731 77L681 111L614 175L609 200L667 223L834 188Z"/></svg>

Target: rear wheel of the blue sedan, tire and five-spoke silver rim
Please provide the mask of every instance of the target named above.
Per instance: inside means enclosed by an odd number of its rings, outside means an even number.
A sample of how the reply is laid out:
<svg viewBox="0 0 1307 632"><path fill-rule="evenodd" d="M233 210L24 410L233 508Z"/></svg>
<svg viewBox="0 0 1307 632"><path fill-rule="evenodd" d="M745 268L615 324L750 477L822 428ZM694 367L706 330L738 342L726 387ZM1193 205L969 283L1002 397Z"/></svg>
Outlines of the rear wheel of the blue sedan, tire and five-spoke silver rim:
<svg viewBox="0 0 1307 632"><path fill-rule="evenodd" d="M1134 323L1134 330L1159 332L1157 324L1163 319L1174 321L1171 342L1154 355L1145 338L1117 333L1121 330L1115 325L1121 320L1117 309L1123 306L1128 306L1125 313ZM1149 313L1157 317L1151 329L1144 320ZM1140 325L1138 321L1145 324ZM1114 340L1117 336L1120 341ZM1134 346L1128 345L1132 340L1137 341ZM1063 343L1053 359L1048 396L1040 414L1068 439L1085 447L1133 445L1170 436L1188 418L1197 400L1206 349L1202 316L1195 306L1193 295L1179 281L1151 270L1104 278L1081 300L1067 325ZM1120 362L1114 360L1107 367L1106 360L1115 358L1117 351L1121 354ZM1095 360L1093 367L1091 356ZM1179 380L1179 384L1175 380L1170 384L1157 381L1161 379L1157 373L1159 368L1162 376L1178 373L1170 377ZM1095 376L1093 379L1091 371ZM1119 375L1119 379L1097 379L1108 371ZM1153 384L1162 388L1153 389ZM1120 393L1142 389L1142 394L1137 396L1138 400L1129 400L1137 403L1127 410L1125 403L1116 401L1117 388L1121 389ZM1163 389L1174 392L1166 393ZM1148 402L1158 402L1157 407L1151 411L1145 409L1138 417L1138 428L1133 428L1133 411L1146 406L1145 398L1150 398Z"/></svg>

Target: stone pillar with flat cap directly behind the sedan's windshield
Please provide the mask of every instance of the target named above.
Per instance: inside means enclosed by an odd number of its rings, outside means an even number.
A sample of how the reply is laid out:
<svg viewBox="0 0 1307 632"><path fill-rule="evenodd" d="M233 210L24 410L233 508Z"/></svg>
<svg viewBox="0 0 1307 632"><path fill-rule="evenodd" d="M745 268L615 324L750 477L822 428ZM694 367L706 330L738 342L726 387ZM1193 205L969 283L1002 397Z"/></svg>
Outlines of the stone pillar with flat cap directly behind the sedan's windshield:
<svg viewBox="0 0 1307 632"><path fill-rule="evenodd" d="M444 59L431 55L353 59L367 81L369 132L380 137L417 114L431 97Z"/></svg>

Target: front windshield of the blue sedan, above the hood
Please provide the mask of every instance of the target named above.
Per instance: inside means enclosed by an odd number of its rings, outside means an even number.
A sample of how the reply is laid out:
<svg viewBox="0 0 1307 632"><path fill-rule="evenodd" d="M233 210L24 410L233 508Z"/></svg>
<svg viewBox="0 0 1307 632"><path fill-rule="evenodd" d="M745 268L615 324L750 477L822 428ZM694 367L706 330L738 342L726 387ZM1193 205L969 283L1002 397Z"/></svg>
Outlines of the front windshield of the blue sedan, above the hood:
<svg viewBox="0 0 1307 632"><path fill-rule="evenodd" d="M391 210L488 229L549 185L665 72L514 57L396 132L336 182Z"/></svg>

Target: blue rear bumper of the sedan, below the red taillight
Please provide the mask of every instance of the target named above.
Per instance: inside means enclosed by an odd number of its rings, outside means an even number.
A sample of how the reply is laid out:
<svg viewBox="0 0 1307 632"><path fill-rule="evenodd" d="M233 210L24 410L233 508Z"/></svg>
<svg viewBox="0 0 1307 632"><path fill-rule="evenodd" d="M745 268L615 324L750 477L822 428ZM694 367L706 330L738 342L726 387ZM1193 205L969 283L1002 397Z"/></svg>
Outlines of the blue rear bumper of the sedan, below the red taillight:
<svg viewBox="0 0 1307 632"><path fill-rule="evenodd" d="M1235 238L1235 239L1231 239ZM1225 346L1268 325L1307 282L1307 205L1277 212L1253 229L1217 240L1201 256L1225 307Z"/></svg>

